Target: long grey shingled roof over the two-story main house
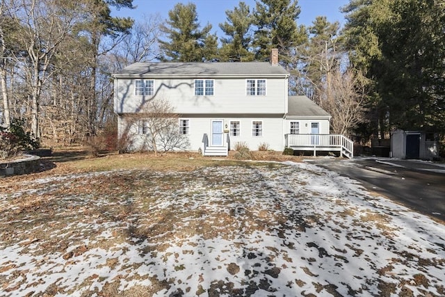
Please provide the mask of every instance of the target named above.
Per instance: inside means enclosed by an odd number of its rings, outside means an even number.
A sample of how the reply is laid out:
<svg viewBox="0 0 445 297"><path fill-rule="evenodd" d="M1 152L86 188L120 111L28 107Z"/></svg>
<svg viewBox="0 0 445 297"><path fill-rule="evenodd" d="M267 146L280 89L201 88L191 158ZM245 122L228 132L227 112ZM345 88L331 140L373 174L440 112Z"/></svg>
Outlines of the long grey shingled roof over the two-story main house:
<svg viewBox="0 0 445 297"><path fill-rule="evenodd" d="M133 63L120 72L117 78L131 77L288 77L289 72L280 65L268 62L218 63Z"/></svg>

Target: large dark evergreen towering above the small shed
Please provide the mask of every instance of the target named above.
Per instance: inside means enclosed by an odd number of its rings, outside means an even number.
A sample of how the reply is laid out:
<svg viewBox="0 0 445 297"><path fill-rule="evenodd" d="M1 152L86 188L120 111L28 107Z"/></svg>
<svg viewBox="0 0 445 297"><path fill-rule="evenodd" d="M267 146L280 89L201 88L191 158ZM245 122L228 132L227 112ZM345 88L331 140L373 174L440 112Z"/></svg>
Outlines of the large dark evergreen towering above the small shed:
<svg viewBox="0 0 445 297"><path fill-rule="evenodd" d="M432 127L445 132L443 3L354 0L344 11L351 61L373 81L373 133Z"/></svg>

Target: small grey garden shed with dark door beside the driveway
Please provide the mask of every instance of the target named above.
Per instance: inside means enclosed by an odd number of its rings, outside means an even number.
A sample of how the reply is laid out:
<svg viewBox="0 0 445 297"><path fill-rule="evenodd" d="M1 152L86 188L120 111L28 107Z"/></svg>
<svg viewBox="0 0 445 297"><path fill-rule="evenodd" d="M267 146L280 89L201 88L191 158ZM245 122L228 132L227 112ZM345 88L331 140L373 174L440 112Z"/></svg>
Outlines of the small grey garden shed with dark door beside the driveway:
<svg viewBox="0 0 445 297"><path fill-rule="evenodd" d="M401 129L392 131L390 156L400 159L437 159L439 158L437 134Z"/></svg>

